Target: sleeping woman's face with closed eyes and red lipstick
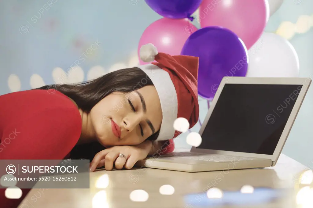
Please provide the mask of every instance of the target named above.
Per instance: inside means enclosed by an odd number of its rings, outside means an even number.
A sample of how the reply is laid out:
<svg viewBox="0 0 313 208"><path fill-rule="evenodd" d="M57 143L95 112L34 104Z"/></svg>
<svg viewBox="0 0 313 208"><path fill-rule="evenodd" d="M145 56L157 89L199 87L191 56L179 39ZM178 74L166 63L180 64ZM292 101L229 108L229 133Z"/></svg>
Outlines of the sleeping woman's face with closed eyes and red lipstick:
<svg viewBox="0 0 313 208"><path fill-rule="evenodd" d="M95 136L105 147L140 144L159 131L162 122L154 86L111 93L91 109L89 116Z"/></svg>

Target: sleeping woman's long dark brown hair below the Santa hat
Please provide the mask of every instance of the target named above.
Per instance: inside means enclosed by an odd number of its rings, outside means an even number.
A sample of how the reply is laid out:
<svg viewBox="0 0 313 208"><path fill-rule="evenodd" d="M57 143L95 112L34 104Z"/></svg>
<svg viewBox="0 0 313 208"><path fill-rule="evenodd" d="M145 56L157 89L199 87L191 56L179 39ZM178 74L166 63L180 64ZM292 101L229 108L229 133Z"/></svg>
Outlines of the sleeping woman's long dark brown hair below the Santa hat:
<svg viewBox="0 0 313 208"><path fill-rule="evenodd" d="M88 82L53 84L37 89L55 89L74 100L80 109L89 113L93 106L112 92L128 93L151 85L153 83L146 73L137 67L133 67L110 72ZM147 140L154 141L158 135L159 131L149 136ZM98 142L76 145L71 151L70 158L92 160L95 154L103 149L105 147Z"/></svg>

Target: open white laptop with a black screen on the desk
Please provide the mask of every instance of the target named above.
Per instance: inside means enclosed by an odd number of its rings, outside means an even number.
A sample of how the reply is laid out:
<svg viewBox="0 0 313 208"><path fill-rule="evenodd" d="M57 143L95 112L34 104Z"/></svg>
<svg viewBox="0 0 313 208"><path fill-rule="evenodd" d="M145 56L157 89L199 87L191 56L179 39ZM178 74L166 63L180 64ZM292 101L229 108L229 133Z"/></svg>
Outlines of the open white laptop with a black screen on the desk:
<svg viewBox="0 0 313 208"><path fill-rule="evenodd" d="M221 171L275 166L310 78L224 77L190 151L155 155L136 166Z"/></svg>

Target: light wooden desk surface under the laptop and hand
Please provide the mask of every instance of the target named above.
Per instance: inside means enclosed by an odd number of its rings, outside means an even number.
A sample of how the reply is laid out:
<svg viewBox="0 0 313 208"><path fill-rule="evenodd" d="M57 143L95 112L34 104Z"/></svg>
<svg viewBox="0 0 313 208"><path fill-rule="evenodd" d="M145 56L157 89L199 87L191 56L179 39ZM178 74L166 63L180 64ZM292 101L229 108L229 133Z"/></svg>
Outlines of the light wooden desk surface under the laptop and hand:
<svg viewBox="0 0 313 208"><path fill-rule="evenodd" d="M254 205L247 207L296 207L296 195L304 186L299 178L307 170L283 154L275 167L264 169L200 173L151 168L102 170L90 173L90 189L33 189L19 208L245 207L238 202L248 205L249 200ZM242 189L244 185L250 186ZM215 189L208 194L212 187ZM243 194L241 190L249 193ZM313 191L310 194L313 197ZM302 195L300 201L309 203L305 202L307 192Z"/></svg>

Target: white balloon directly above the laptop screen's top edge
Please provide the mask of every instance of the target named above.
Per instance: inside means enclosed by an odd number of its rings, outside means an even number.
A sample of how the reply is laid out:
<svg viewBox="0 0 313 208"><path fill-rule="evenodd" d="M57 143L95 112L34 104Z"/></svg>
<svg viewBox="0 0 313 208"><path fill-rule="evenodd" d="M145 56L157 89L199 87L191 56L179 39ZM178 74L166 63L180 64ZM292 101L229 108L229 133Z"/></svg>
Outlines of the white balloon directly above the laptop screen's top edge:
<svg viewBox="0 0 313 208"><path fill-rule="evenodd" d="M275 33L264 32L249 49L247 77L298 77L299 59L294 47Z"/></svg>

